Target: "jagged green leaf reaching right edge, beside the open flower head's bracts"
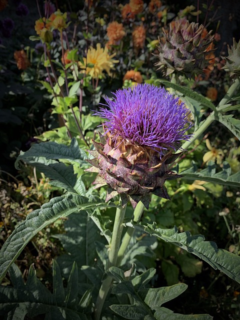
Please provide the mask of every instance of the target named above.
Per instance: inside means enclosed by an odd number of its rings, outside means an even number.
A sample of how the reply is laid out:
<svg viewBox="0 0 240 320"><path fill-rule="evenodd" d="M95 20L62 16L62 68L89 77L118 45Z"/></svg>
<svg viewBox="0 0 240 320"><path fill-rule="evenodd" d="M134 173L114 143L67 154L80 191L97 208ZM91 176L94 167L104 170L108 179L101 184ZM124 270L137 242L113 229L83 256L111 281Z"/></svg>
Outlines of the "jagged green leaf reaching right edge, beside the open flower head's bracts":
<svg viewBox="0 0 240 320"><path fill-rule="evenodd" d="M224 161L222 171L216 173L215 164L210 161L205 169L197 170L195 162L192 161L192 167L181 171L180 174L190 180L202 180L211 183L240 186L240 171L231 174L230 165Z"/></svg>

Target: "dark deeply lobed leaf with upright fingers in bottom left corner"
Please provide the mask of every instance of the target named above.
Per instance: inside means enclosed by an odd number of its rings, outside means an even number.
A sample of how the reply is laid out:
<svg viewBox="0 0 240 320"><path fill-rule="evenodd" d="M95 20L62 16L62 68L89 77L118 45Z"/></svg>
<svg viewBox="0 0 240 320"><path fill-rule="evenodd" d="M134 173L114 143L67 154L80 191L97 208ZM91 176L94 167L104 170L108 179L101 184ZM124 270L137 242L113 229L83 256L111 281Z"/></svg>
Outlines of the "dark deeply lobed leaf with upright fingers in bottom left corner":
<svg viewBox="0 0 240 320"><path fill-rule="evenodd" d="M36 272L30 266L26 283L22 274L13 263L9 268L13 287L0 285L1 315L7 319L23 320L25 316L33 318L45 314L45 319L74 319L86 320L79 305L77 267L73 263L67 281L66 291L63 287L60 269L53 260L52 278L53 292L51 293L37 278Z"/></svg>

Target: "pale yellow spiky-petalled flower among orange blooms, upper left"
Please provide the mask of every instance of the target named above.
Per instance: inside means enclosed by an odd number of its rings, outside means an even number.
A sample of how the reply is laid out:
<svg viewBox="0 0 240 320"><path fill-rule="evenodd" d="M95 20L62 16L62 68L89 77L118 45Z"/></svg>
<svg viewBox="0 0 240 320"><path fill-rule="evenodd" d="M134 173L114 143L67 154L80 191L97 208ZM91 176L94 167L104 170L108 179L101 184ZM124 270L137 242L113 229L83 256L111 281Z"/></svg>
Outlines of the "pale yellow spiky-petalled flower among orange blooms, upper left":
<svg viewBox="0 0 240 320"><path fill-rule="evenodd" d="M85 69L93 79L104 77L103 71L111 75L110 70L114 70L114 63L119 62L113 60L115 53L109 55L107 47L101 48L100 43L96 44L96 49L92 46L87 50L86 57L83 57L83 64L79 62L79 66Z"/></svg>

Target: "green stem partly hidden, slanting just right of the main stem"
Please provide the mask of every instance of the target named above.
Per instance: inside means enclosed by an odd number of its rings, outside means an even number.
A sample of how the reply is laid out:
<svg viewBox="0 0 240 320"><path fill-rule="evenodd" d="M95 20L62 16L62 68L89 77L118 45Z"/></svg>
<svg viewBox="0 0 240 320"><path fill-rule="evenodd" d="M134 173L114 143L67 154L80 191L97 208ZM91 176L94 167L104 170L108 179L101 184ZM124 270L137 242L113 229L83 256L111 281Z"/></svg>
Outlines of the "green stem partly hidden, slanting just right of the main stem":
<svg viewBox="0 0 240 320"><path fill-rule="evenodd" d="M139 201L135 207L135 210L134 210L134 213L133 213L133 221L135 222L138 222L140 220L140 217L142 215L142 212L144 210L144 204ZM121 263L121 260L125 254L125 251L126 251L126 248L130 242L130 239L134 233L134 228L131 227L131 226L128 226L127 230L126 230L126 233L124 234L123 238L122 238L122 241L121 241L121 246L119 248L119 251L118 251L118 255L117 255L117 262L116 262L116 265L120 265Z"/></svg>

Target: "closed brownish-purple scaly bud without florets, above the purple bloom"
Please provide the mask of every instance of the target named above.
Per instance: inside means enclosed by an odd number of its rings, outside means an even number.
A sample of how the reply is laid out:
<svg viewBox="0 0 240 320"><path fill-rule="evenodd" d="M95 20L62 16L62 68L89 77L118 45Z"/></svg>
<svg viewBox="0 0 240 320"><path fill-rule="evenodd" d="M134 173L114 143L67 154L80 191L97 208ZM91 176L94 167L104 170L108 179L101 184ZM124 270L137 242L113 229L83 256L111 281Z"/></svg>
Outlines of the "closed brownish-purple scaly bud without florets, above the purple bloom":
<svg viewBox="0 0 240 320"><path fill-rule="evenodd" d="M204 26L188 20L172 21L169 30L163 30L159 39L159 61L155 64L164 75L172 72L187 77L202 73L207 67L206 54L212 48L213 35Z"/></svg>

